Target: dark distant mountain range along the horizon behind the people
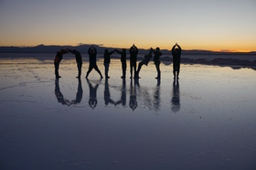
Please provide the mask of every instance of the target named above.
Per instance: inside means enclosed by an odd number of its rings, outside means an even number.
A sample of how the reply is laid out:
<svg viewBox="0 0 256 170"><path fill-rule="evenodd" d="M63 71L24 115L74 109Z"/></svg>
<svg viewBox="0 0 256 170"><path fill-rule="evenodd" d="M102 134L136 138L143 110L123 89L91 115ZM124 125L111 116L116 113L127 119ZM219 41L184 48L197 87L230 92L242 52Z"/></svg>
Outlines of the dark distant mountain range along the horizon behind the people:
<svg viewBox="0 0 256 170"><path fill-rule="evenodd" d="M101 47L98 45L93 45L97 48L98 53L103 53L105 47ZM0 47L0 53L56 53L61 48L70 48L70 49L77 49L81 53L87 53L88 49L91 45L80 45L80 46L45 46L45 45L38 45L35 47ZM114 48L107 48L112 50ZM117 48L121 49L121 48ZM147 53L148 49L139 49L139 53L145 54ZM171 50L162 49L162 53L170 54ZM208 50L183 50L183 54L187 55L211 55L211 54L252 54L256 55L256 51L251 52L215 52L215 51L208 51Z"/></svg>

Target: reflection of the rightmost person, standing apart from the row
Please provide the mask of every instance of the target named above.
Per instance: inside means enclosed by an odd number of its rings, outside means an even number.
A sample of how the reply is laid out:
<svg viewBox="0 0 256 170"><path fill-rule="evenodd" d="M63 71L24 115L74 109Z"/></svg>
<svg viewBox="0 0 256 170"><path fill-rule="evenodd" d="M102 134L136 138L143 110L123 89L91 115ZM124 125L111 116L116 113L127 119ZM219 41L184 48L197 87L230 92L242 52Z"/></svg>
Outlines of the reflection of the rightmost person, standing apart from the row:
<svg viewBox="0 0 256 170"><path fill-rule="evenodd" d="M172 96L172 111L179 112L180 100L179 100L179 83L178 80L173 82L173 96Z"/></svg>

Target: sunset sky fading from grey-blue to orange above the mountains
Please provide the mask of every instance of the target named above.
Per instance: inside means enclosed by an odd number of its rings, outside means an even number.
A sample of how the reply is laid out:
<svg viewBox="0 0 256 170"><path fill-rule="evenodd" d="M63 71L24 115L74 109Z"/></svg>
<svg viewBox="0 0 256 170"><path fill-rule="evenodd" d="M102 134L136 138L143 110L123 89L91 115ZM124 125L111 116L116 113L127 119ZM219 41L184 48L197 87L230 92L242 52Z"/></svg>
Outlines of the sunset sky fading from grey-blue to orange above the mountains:
<svg viewBox="0 0 256 170"><path fill-rule="evenodd" d="M0 0L0 46L256 51L256 0Z"/></svg>

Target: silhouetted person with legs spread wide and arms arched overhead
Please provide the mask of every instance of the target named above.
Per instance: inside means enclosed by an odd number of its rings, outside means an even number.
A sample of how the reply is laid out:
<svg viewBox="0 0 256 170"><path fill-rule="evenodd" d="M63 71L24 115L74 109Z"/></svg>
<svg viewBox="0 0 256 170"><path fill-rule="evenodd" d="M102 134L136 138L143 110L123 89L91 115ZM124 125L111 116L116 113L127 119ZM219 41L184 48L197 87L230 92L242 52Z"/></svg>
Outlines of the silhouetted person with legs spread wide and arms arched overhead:
<svg viewBox="0 0 256 170"><path fill-rule="evenodd" d="M101 76L101 79L103 78L102 75L101 75L101 71L100 69L98 68L97 66L97 50L96 48L94 48L93 46L91 46L91 48L89 48L88 50L88 54L89 54L89 60L90 60L90 65L89 65L89 69L87 71L87 74L86 74L86 78L88 78L90 72L92 69L95 69Z"/></svg>

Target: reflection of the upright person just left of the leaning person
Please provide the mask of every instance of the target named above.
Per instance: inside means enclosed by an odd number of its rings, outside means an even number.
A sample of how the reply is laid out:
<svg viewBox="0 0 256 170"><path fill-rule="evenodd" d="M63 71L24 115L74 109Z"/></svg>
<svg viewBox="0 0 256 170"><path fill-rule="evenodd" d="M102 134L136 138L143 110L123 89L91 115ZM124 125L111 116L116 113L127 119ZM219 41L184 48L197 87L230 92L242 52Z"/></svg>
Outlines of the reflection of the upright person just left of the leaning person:
<svg viewBox="0 0 256 170"><path fill-rule="evenodd" d="M138 102L137 102L137 96L136 96L136 86L140 86L139 84L139 80L135 79L134 80L134 85L133 85L133 80L131 80L131 84L130 84L130 101L129 101L129 106L130 108L134 111L137 106L138 106Z"/></svg>

